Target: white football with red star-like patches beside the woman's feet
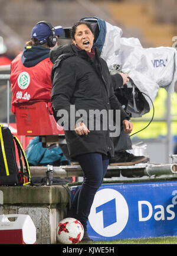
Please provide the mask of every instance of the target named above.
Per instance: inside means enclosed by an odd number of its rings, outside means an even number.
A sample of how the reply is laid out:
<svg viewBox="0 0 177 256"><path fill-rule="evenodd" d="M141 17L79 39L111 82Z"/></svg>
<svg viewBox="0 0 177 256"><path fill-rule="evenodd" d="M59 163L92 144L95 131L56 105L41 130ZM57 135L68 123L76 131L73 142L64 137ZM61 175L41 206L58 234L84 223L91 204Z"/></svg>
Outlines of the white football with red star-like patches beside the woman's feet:
<svg viewBox="0 0 177 256"><path fill-rule="evenodd" d="M78 244L83 235L83 225L77 219L67 217L58 223L57 240L61 244Z"/></svg>

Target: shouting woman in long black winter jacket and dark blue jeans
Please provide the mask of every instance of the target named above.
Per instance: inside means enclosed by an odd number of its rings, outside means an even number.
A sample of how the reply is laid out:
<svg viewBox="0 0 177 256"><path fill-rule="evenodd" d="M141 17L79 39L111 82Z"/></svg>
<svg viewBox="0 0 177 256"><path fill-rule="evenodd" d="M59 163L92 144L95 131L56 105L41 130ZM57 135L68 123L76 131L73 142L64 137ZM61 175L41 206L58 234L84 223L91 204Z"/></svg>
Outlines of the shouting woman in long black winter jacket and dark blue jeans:
<svg viewBox="0 0 177 256"><path fill-rule="evenodd" d="M91 205L106 174L109 157L114 153L109 118L104 119L104 114L120 110L124 131L132 132L133 126L113 93L106 62L92 48L94 35L90 24L78 21L71 28L71 36L73 44L57 47L50 54L54 63L51 102L60 124L64 124L70 156L80 163L84 172L83 184L74 197L69 216L80 220L84 227L83 241L89 241L87 220ZM103 116L97 129L98 120L93 111L101 110ZM93 123L94 129L90 129Z"/></svg>

